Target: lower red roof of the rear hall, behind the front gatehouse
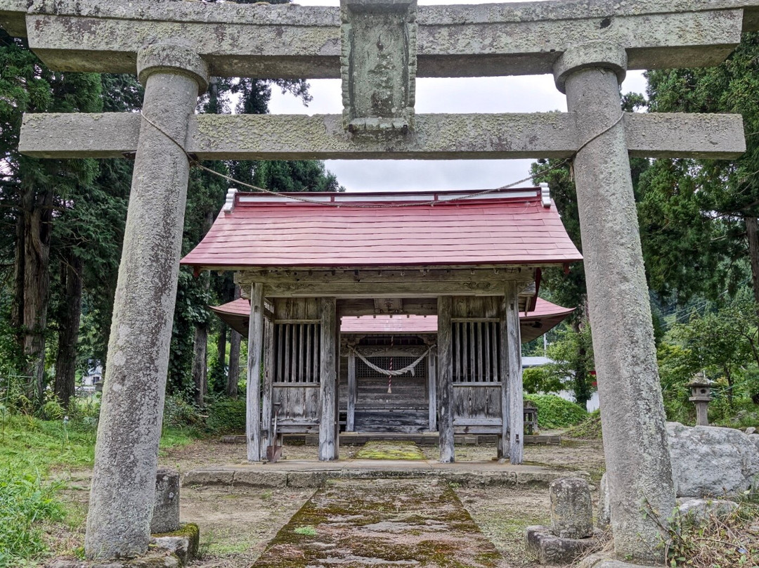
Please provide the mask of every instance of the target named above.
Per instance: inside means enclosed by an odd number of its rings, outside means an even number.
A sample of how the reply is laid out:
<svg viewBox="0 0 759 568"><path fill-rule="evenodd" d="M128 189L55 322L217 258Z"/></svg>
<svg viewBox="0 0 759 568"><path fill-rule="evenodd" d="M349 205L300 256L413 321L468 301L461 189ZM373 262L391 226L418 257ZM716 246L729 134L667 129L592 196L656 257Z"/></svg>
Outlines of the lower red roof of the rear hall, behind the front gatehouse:
<svg viewBox="0 0 759 568"><path fill-rule="evenodd" d="M250 301L239 298L228 304L212 306L211 309L230 327L247 336L247 322L250 319ZM574 308L562 308L550 301L537 298L535 309L527 315L519 314L522 342L528 342L543 335L572 314ZM539 323L540 325L535 325ZM340 322L342 333L437 333L437 316L388 315L343 316Z"/></svg>

